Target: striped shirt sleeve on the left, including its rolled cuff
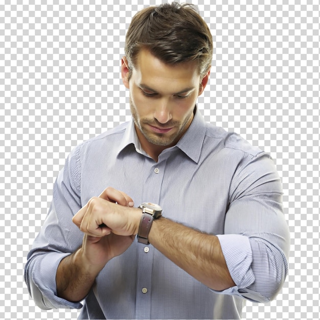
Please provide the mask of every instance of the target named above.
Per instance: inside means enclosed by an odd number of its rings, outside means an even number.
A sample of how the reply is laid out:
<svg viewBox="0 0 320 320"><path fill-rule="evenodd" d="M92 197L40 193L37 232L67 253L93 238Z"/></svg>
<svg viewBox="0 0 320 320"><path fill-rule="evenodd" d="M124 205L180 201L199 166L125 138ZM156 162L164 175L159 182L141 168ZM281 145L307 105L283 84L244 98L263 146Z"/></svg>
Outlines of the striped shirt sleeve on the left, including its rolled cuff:
<svg viewBox="0 0 320 320"><path fill-rule="evenodd" d="M41 231L34 240L25 266L25 281L35 304L41 309L76 308L57 296L56 272L60 261L82 243L83 234L72 222L81 209L79 147L67 158L54 184L53 200Z"/></svg>

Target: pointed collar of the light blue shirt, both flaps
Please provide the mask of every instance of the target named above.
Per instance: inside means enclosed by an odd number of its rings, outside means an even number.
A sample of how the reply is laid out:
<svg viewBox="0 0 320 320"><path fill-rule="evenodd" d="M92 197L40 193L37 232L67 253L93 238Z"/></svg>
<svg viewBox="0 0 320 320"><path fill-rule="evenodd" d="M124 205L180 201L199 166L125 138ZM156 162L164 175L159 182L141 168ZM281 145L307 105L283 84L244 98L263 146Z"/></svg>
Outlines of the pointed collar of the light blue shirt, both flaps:
<svg viewBox="0 0 320 320"><path fill-rule="evenodd" d="M182 138L178 141L175 147L179 148L194 162L198 163L200 154L201 154L204 136L205 136L205 130L206 129L205 129L204 119L200 111L196 107L195 115L190 127L182 136ZM132 145L132 144L134 145L135 150L137 152L141 154L146 154L142 150L140 141L138 139L138 135L136 134L133 119L131 119L131 121L127 123L125 134L119 145L117 154L119 154L128 145Z"/></svg>

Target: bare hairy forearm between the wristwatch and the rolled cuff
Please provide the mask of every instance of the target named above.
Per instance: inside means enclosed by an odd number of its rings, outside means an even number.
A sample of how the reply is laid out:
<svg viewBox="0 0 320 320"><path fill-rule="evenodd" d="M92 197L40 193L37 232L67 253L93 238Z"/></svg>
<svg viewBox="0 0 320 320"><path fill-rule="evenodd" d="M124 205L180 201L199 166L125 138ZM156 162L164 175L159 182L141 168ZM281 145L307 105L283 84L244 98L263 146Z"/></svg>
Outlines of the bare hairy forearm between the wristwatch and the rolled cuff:
<svg viewBox="0 0 320 320"><path fill-rule="evenodd" d="M235 286L226 266L219 239L171 220L154 220L150 243L192 277L211 289Z"/></svg>

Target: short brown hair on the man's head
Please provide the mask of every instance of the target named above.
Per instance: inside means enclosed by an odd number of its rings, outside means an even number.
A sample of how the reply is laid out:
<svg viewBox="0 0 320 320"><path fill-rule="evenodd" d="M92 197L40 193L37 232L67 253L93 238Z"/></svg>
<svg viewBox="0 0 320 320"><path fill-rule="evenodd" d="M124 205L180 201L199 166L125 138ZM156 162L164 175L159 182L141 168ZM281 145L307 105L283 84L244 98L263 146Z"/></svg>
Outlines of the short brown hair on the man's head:
<svg viewBox="0 0 320 320"><path fill-rule="evenodd" d="M213 43L208 25L191 4L148 7L132 18L126 34L125 55L129 70L146 48L167 64L197 61L201 76L209 71Z"/></svg>

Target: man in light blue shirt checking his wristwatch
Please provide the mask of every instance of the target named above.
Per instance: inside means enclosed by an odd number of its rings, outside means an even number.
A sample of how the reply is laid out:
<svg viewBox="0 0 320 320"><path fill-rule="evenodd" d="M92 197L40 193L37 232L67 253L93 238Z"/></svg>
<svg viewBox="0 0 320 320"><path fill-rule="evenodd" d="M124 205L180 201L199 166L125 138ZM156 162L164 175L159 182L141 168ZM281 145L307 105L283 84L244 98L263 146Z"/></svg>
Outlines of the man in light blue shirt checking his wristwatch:
<svg viewBox="0 0 320 320"><path fill-rule="evenodd" d="M121 67L133 119L75 148L58 175L25 269L40 308L236 319L245 299L276 297L289 248L280 178L265 152L203 121L211 59L192 6L133 17Z"/></svg>

